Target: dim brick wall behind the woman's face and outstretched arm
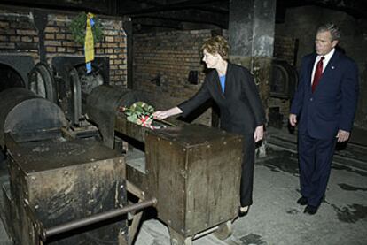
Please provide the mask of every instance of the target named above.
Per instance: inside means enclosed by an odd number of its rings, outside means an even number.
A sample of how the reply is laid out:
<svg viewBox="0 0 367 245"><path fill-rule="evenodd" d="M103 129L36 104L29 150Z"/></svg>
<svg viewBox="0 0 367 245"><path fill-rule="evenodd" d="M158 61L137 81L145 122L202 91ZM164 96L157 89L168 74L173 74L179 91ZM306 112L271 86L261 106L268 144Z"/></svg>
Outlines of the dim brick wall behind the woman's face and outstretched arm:
<svg viewBox="0 0 367 245"><path fill-rule="evenodd" d="M155 107L160 110L193 96L205 77L200 46L209 37L210 30L135 34L134 89L152 96ZM190 71L198 71L199 84L190 84ZM157 76L160 76L160 86L154 81ZM206 125L210 125L210 121L211 110L195 120Z"/></svg>

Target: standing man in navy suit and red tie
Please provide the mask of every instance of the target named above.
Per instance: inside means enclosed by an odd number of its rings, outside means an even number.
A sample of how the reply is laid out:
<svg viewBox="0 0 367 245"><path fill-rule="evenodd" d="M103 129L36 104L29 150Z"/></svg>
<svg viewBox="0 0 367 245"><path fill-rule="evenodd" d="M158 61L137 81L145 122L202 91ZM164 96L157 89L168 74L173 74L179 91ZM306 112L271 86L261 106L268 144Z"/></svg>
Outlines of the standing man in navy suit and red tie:
<svg viewBox="0 0 367 245"><path fill-rule="evenodd" d="M315 214L324 198L336 142L349 138L358 96L355 62L335 50L340 31L334 24L316 32L316 54L302 58L299 86L289 121L299 124L298 150L304 212Z"/></svg>

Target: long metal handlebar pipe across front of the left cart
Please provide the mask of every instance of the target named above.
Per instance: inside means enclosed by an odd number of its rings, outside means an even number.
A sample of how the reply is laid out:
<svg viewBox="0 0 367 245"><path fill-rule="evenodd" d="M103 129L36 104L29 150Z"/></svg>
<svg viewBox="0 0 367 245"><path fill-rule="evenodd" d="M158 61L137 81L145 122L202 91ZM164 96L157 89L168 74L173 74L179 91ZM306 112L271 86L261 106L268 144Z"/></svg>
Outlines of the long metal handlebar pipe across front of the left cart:
<svg viewBox="0 0 367 245"><path fill-rule="evenodd" d="M118 216L121 216L123 214L126 214L130 211L137 211L141 210L150 206L154 206L157 203L157 199L153 197L150 200L132 204L126 207L123 207L121 209L116 209L113 211L105 211L103 213L98 213L96 215L87 217L87 218L81 218L78 220L70 221L58 226L53 226L51 228L45 229L43 228L43 231L41 232L41 239L45 242L47 238L50 238L51 236L54 236L56 234L63 234L69 231L72 231L77 228L81 228L83 226L90 226L93 224L96 224L101 221L105 221L109 218L115 218Z"/></svg>

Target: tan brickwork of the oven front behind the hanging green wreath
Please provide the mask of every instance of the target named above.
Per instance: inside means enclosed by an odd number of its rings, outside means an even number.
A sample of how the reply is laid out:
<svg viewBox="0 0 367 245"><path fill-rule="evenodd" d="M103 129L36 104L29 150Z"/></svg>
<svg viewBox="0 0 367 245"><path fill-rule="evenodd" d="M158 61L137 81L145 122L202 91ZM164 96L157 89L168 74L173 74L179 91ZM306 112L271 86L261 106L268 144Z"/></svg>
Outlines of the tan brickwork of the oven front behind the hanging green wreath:
<svg viewBox="0 0 367 245"><path fill-rule="evenodd" d="M70 12L47 14L47 25L44 29L46 59L51 64L52 57L82 56L82 45L74 42L68 30L70 22L76 15ZM122 29L121 19L98 17L103 26L104 40L96 43L96 56L109 57L111 84L126 86L126 34ZM0 55L27 54L39 57L39 37L34 24L32 11L0 10Z"/></svg>

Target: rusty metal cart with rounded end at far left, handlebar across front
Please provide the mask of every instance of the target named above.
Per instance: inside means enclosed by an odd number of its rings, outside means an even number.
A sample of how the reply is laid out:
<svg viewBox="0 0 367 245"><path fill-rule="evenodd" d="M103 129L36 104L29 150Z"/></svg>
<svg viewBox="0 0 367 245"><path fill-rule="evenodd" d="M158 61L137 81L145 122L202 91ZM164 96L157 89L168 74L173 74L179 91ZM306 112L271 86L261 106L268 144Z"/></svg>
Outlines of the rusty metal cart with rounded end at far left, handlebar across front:
<svg viewBox="0 0 367 245"><path fill-rule="evenodd" d="M66 140L63 111L25 88L4 90L0 104L8 165L0 214L14 244L129 244L127 213L156 200L127 205L121 152Z"/></svg>

